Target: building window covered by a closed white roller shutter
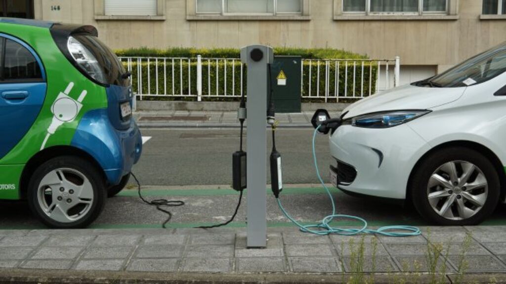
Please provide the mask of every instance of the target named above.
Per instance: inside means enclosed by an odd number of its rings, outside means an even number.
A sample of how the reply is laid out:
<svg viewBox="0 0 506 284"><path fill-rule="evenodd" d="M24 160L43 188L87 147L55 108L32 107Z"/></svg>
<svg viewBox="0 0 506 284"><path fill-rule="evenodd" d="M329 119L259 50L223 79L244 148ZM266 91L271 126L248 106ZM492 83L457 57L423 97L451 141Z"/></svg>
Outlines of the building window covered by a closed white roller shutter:
<svg viewBox="0 0 506 284"><path fill-rule="evenodd" d="M156 16L156 0L105 0L106 16Z"/></svg>

